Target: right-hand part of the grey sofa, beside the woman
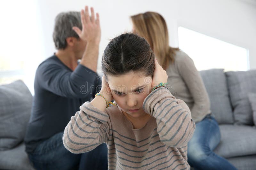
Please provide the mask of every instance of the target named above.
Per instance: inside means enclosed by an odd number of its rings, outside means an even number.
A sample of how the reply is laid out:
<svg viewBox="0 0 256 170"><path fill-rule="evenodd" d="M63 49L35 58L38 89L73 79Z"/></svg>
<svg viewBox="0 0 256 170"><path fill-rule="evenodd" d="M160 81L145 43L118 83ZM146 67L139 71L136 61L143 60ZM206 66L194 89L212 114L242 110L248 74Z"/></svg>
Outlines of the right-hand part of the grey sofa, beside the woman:
<svg viewBox="0 0 256 170"><path fill-rule="evenodd" d="M256 169L256 70L200 71L220 125L221 141L214 152L239 170Z"/></svg>

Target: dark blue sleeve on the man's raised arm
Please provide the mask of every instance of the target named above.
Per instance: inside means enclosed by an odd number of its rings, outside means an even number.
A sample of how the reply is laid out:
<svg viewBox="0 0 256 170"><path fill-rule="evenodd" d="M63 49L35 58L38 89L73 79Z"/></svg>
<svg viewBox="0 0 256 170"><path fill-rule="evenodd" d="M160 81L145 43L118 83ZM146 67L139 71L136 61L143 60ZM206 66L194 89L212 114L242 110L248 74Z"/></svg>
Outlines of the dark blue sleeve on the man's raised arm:
<svg viewBox="0 0 256 170"><path fill-rule="evenodd" d="M36 77L42 88L67 98L90 98L95 80L100 81L97 73L81 64L71 72L57 64L42 63Z"/></svg>

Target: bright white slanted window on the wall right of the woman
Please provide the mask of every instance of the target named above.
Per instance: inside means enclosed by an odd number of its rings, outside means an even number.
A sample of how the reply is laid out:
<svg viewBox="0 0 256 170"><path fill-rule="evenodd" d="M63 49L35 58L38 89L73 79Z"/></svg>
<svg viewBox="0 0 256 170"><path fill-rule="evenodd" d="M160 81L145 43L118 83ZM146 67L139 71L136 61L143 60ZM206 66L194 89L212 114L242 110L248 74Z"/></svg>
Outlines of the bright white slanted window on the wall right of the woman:
<svg viewBox="0 0 256 170"><path fill-rule="evenodd" d="M224 68L225 71L249 69L248 50L207 35L178 28L179 47L194 60L197 70Z"/></svg>

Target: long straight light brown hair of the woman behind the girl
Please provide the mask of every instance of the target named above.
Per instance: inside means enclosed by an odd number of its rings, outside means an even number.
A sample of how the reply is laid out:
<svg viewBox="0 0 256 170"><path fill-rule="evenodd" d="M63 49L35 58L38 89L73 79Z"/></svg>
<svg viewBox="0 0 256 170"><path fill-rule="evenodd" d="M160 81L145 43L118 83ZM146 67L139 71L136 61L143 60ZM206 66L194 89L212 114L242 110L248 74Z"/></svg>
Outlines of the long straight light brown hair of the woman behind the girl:
<svg viewBox="0 0 256 170"><path fill-rule="evenodd" d="M156 12L145 12L131 16L135 33L147 39L157 61L166 70L174 61L179 48L169 46L169 35L164 18Z"/></svg>

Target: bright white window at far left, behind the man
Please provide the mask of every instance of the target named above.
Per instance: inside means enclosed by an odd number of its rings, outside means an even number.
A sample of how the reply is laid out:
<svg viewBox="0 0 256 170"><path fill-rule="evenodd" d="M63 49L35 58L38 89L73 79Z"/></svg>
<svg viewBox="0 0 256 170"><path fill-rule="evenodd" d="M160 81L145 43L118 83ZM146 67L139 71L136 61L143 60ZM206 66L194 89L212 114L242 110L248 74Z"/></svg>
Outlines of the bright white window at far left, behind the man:
<svg viewBox="0 0 256 170"><path fill-rule="evenodd" d="M34 77L43 59L37 1L4 1L0 5L0 84L21 79L34 94Z"/></svg>

